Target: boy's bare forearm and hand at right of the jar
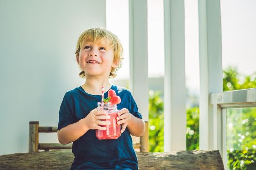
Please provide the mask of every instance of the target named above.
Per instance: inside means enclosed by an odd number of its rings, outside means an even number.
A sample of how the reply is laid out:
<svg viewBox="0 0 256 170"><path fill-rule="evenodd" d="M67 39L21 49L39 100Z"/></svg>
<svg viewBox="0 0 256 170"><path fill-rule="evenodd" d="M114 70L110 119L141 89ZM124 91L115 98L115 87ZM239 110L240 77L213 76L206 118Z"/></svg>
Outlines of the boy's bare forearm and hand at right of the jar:
<svg viewBox="0 0 256 170"><path fill-rule="evenodd" d="M145 132L145 122L143 119L135 117L133 114L129 113L128 109L124 108L120 110L120 116L117 117L118 124L123 124L121 133L124 132L126 127L132 136L140 137Z"/></svg>

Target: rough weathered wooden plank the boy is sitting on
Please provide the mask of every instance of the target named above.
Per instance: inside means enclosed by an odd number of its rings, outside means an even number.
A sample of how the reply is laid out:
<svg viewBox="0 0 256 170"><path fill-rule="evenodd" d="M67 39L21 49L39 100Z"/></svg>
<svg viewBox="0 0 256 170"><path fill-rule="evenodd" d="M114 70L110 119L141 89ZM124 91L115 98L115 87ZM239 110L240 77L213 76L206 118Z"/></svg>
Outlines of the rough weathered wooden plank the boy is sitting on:
<svg viewBox="0 0 256 170"><path fill-rule="evenodd" d="M137 152L140 170L224 170L219 151ZM0 156L0 170L69 170L71 149Z"/></svg>

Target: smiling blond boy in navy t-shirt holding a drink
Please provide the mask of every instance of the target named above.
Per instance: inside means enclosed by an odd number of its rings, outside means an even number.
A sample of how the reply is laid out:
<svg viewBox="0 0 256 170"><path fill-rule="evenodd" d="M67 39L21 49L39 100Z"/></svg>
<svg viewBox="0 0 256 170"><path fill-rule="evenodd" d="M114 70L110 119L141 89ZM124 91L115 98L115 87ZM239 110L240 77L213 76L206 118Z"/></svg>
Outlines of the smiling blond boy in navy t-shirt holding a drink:
<svg viewBox="0 0 256 170"><path fill-rule="evenodd" d="M61 144L73 142L75 156L71 170L138 170L138 160L131 135L142 136L145 123L138 112L131 93L111 85L109 78L116 76L121 66L122 46L117 36L105 29L92 28L83 32L77 43L76 59L81 69L79 76L85 83L67 92L59 111L58 140ZM95 129L106 130L107 112L97 110L101 101L101 87L112 89L122 99L117 105L122 124L121 136L113 140L98 140Z"/></svg>

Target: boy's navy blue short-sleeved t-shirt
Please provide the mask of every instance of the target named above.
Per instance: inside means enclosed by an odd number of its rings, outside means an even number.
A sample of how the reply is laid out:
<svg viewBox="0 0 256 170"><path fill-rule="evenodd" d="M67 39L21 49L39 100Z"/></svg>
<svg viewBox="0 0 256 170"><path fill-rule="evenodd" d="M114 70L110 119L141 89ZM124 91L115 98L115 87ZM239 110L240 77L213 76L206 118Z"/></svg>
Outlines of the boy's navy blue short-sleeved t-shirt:
<svg viewBox="0 0 256 170"><path fill-rule="evenodd" d="M142 119L130 91L115 85L112 85L111 89L122 99L117 109L127 108L131 114ZM105 92L104 98L107 98L107 95L108 92ZM82 87L67 92L59 110L58 130L85 118L97 107L97 102L101 102L101 95L88 94ZM118 139L113 140L98 140L95 130L88 130L73 142L72 152L75 158L71 170L125 167L138 170L138 160L128 128Z"/></svg>

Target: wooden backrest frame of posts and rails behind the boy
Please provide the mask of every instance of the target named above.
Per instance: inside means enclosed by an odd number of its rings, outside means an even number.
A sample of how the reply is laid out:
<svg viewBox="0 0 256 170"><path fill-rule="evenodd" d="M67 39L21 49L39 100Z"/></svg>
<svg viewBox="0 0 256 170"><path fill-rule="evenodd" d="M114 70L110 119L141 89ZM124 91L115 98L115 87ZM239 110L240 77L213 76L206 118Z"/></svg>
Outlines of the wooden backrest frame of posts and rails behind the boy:
<svg viewBox="0 0 256 170"><path fill-rule="evenodd" d="M148 122L145 122L146 129L143 136L140 137L140 142L133 143L134 149L139 149L140 152L148 152ZM39 121L29 122L29 140L28 152L38 152L39 150L49 151L53 149L71 149L72 143L62 145L61 143L39 143L39 133L57 132L57 127L39 126Z"/></svg>

